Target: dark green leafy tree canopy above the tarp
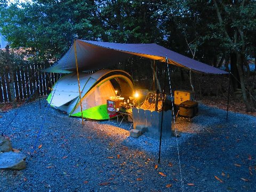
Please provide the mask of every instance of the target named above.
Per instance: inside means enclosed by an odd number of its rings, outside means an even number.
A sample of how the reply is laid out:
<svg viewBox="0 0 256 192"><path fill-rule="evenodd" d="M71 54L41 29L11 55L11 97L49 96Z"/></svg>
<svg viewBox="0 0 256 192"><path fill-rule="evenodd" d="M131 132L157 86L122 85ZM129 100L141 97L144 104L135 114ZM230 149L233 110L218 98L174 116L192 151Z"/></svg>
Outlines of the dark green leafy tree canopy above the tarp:
<svg viewBox="0 0 256 192"><path fill-rule="evenodd" d="M25 48L37 62L58 60L74 39L157 43L215 67L230 60L231 72L241 83L233 79L233 87L242 89L245 102L246 86L255 86L244 70L246 58L256 54L253 0L0 3L0 33L12 48Z"/></svg>

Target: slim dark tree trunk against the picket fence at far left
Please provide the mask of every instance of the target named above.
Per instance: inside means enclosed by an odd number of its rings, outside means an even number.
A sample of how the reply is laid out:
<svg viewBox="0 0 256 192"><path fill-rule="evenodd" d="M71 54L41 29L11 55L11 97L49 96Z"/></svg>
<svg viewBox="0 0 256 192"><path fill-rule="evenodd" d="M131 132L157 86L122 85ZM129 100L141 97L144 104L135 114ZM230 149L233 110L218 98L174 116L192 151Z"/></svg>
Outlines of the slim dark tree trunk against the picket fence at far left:
<svg viewBox="0 0 256 192"><path fill-rule="evenodd" d="M14 90L14 76L13 76L13 66L12 66L12 62L10 59L10 52L9 52L9 45L6 45L5 47L6 50L6 64L8 66L8 72L9 72L9 87L10 87L10 95L11 95L11 101L12 101L12 107L15 108L17 107L17 101L15 98L15 90Z"/></svg>

